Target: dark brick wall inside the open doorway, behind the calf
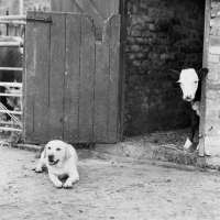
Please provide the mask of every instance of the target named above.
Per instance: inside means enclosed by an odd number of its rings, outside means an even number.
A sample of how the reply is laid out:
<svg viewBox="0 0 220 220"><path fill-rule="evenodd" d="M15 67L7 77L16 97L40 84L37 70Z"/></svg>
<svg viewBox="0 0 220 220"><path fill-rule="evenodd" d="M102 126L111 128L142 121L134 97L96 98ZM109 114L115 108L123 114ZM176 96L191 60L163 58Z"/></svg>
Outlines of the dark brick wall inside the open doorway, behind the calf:
<svg viewBox="0 0 220 220"><path fill-rule="evenodd" d="M128 0L128 10L125 135L189 125L168 69L201 68L205 0Z"/></svg>

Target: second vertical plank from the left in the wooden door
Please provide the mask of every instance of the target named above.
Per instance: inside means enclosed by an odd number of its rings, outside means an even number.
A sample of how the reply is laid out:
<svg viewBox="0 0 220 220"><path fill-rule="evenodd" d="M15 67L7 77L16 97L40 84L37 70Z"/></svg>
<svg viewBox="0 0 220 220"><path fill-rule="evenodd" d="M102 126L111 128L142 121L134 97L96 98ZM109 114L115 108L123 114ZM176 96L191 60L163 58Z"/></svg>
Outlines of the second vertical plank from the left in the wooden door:
<svg viewBox="0 0 220 220"><path fill-rule="evenodd" d="M48 12L36 12L38 18L50 18ZM48 73L50 73L50 23L37 22L35 30L35 79L34 79L34 140L48 141Z"/></svg>

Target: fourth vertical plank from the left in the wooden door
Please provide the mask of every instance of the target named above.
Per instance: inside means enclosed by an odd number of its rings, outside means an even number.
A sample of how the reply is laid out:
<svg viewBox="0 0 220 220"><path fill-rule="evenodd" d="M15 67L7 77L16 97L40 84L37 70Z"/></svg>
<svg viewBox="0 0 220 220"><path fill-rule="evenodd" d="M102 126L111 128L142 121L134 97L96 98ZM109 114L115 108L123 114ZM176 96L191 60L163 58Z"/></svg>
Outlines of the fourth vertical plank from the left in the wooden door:
<svg viewBox="0 0 220 220"><path fill-rule="evenodd" d="M78 142L81 15L66 14L64 140Z"/></svg>

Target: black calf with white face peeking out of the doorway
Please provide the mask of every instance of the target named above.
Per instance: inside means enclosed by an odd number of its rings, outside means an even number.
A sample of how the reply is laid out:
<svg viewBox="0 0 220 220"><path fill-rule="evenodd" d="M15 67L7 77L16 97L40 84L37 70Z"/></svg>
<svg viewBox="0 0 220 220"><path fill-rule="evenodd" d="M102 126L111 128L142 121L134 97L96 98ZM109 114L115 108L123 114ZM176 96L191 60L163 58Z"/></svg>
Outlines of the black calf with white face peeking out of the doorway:
<svg viewBox="0 0 220 220"><path fill-rule="evenodd" d="M173 70L179 75L177 81L183 91L183 99L191 103L191 132L187 138L184 148L188 150L193 145L195 131L199 125L200 118L200 100L201 100L201 78L208 74L207 68L202 68L196 73L194 68L183 69L182 73Z"/></svg>

